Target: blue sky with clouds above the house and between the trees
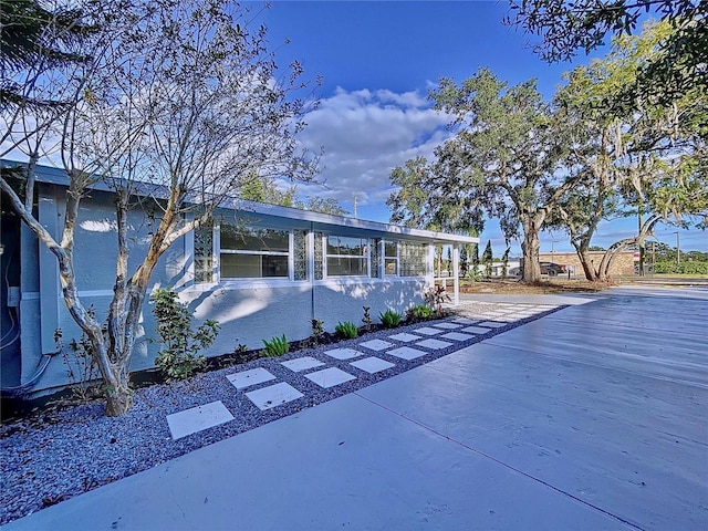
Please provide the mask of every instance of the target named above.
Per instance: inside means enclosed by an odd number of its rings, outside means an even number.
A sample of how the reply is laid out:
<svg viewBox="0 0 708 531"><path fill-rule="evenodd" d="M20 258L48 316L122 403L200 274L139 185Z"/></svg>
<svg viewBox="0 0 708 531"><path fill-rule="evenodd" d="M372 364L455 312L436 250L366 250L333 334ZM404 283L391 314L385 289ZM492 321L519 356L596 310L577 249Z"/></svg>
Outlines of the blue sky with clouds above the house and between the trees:
<svg viewBox="0 0 708 531"><path fill-rule="evenodd" d="M298 59L306 77L323 80L320 107L308 116L302 138L311 148L324 147L321 177L327 188L300 185L300 192L335 197L350 211L356 195L360 218L388 221L391 170L418 155L430 158L446 138L448 118L427 101L440 76L460 82L487 66L510 84L535 77L550 98L573 64L541 61L528 35L502 24L507 10L506 1L272 2L259 20L279 64ZM575 64L587 61L582 55ZM636 219L605 222L594 243L629 237L636 225ZM658 227L656 236L675 244L674 230ZM480 238L503 252L493 221ZM551 248L571 250L562 232L542 235L541 250ZM708 251L708 236L681 233L681 248Z"/></svg>

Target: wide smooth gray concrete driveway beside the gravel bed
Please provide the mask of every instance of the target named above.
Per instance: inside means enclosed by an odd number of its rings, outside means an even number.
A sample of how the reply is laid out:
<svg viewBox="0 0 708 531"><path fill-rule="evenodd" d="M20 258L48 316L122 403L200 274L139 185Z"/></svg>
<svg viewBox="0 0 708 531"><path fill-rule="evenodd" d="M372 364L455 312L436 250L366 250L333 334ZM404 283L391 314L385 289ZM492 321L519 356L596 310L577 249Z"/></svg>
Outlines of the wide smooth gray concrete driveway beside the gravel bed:
<svg viewBox="0 0 708 531"><path fill-rule="evenodd" d="M708 290L582 299L4 529L708 529Z"/></svg>

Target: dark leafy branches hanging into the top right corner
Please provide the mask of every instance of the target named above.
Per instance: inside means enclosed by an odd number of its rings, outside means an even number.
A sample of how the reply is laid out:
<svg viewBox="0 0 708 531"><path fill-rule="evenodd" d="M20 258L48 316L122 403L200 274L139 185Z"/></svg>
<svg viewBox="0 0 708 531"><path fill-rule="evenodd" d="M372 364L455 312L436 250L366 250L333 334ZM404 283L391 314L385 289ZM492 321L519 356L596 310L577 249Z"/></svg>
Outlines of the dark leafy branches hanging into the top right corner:
<svg viewBox="0 0 708 531"><path fill-rule="evenodd" d="M667 20L674 31L657 44L625 90L624 103L636 97L670 102L693 88L708 87L708 3L701 0L511 0L507 23L541 37L534 50L549 62L586 53L608 35L634 33L645 13Z"/></svg>

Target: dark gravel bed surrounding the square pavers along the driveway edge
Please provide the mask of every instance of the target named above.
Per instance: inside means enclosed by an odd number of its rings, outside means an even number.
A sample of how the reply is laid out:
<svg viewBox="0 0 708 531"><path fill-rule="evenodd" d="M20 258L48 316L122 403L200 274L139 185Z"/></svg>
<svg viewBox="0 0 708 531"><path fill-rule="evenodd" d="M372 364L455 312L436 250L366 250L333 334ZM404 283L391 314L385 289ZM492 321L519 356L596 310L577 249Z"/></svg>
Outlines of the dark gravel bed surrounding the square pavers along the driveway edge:
<svg viewBox="0 0 708 531"><path fill-rule="evenodd" d="M455 308L455 313L456 316L473 319L475 315L496 306L486 303L464 303ZM365 341L381 339L403 346L406 343L396 342L388 336L413 332L420 324L383 330L357 340L306 348L279 358L259 358L247 364L199 374L185 382L139 388L135 393L135 404L131 412L117 418L105 417L103 405L93 403L63 410L46 410L31 418L2 425L0 427L0 466L2 467L0 524L155 467L202 446L356 392L559 309L548 309L543 313L508 323L471 340L454 342L450 347L430 351L413 361L400 360L384 352L367 351L357 345ZM455 317L446 321L451 319ZM434 324L434 322L426 324ZM366 355L393 362L395 366L368 374L350 365L353 360L337 361L324 354L324 351L335 347L357 347ZM280 364L305 355L324 362L326 367L340 367L356 376L356 379L331 388L321 388L308 379L305 374L325 366L294 373ZM362 357L365 356L360 358ZM278 381L236 391L226 378L227 374L254 367L266 368L277 376ZM304 396L261 412L248 399L246 392L272 385L275 382L287 382ZM221 400L235 419L178 440L171 439L166 420L167 415L215 400Z"/></svg>

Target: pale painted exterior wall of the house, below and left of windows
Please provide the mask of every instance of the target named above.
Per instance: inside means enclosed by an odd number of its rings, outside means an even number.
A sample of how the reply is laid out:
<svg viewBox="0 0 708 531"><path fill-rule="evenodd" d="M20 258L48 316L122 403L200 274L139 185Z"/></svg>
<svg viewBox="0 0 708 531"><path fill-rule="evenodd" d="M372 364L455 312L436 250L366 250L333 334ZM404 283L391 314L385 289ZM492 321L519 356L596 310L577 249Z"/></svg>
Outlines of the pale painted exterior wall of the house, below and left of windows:
<svg viewBox="0 0 708 531"><path fill-rule="evenodd" d="M48 184L38 188L40 222L55 238L60 238L64 221L64 190L61 186ZM114 219L111 194L93 191L82 199L75 232L76 283L82 303L86 308L93 306L100 321L106 316L115 283L117 242ZM131 272L144 256L153 222L150 216L140 209L128 215ZM21 371L22 383L27 383L34 375L42 355L56 351L58 330L62 333L63 353L71 357L73 353L67 345L81 337L81 330L64 304L56 258L25 228L22 246L28 249L21 263ZM157 287L173 287L179 293L195 317L195 327L207 319L220 323L216 343L204 352L207 356L217 356L232 353L240 344L260 348L262 340L275 335L285 334L289 341L305 339L312 332L312 319L324 321L324 329L330 332L340 321L362 325L363 306L371 306L375 321L388 308L403 313L424 302L424 290L431 283L429 264L426 271L428 274L424 277L410 278L313 280L310 274L305 281L253 279L195 284L194 235L189 233L177 240L155 268L143 306L132 371L153 367L159 350L159 344L150 341L157 335L148 302L149 292ZM71 383L67 365L60 354L52 358L32 393L55 391Z"/></svg>

